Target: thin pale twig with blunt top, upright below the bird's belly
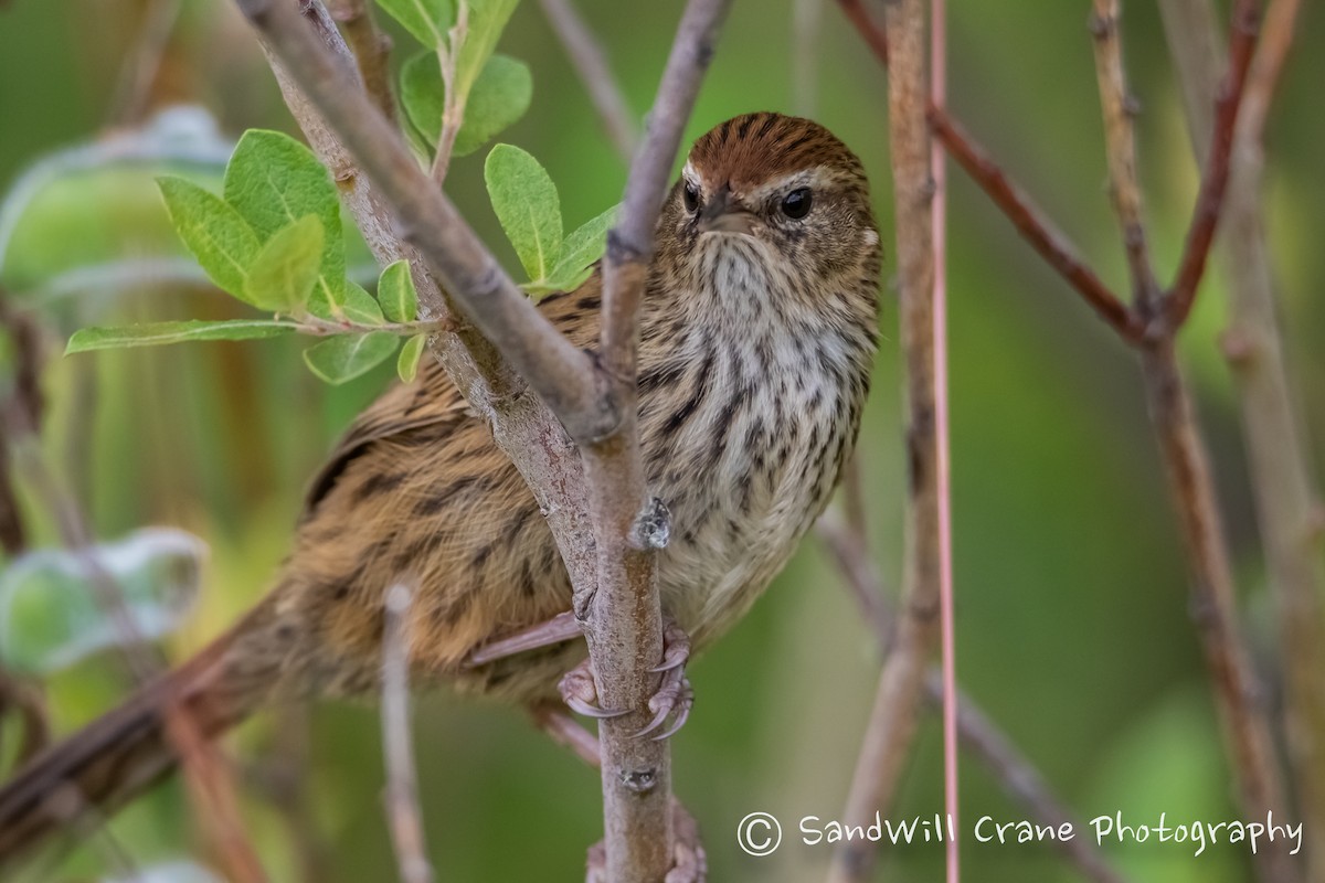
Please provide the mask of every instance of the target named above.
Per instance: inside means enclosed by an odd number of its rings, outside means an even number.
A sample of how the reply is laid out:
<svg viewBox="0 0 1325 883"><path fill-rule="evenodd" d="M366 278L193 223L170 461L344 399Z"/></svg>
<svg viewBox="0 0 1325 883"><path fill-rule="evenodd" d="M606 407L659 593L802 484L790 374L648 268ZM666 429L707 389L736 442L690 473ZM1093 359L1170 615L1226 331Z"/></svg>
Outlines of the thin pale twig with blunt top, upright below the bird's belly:
<svg viewBox="0 0 1325 883"><path fill-rule="evenodd" d="M419 806L413 740L409 737L409 638L405 616L412 594L408 586L400 584L387 590L382 634L382 749L387 764L387 818L400 879L404 883L432 883Z"/></svg>

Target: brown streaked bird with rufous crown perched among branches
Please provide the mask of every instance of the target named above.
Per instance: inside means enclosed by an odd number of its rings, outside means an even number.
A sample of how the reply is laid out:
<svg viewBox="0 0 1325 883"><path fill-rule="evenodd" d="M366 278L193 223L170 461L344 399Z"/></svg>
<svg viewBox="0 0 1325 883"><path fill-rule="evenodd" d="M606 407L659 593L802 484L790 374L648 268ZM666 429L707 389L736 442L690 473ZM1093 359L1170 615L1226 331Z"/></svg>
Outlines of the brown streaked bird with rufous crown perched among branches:
<svg viewBox="0 0 1325 883"><path fill-rule="evenodd" d="M749 114L696 142L659 218L639 353L649 491L673 526L662 606L696 647L786 564L851 455L878 263L864 169L825 128ZM600 285L595 273L541 303L576 346L596 343ZM371 695L401 577L417 585L404 624L416 682L533 703L584 657L563 641L465 665L566 612L571 586L533 494L431 360L341 441L253 610L0 789L0 864L60 825L45 806L57 790L105 813L167 772L167 707L216 736L281 700Z"/></svg>

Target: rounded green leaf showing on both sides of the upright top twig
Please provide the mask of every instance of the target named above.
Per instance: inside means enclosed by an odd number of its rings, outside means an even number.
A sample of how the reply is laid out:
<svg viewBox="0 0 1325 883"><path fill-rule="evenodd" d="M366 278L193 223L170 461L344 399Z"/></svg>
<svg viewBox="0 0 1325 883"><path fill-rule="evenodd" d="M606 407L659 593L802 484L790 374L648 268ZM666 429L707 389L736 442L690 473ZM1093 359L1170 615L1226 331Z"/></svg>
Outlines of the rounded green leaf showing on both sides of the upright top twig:
<svg viewBox="0 0 1325 883"><path fill-rule="evenodd" d="M529 110L534 77L529 65L509 56L493 56L474 82L465 118L456 132L454 156L468 156ZM437 56L423 53L404 64L400 71L400 103L409 122L428 143L437 147L445 87Z"/></svg>

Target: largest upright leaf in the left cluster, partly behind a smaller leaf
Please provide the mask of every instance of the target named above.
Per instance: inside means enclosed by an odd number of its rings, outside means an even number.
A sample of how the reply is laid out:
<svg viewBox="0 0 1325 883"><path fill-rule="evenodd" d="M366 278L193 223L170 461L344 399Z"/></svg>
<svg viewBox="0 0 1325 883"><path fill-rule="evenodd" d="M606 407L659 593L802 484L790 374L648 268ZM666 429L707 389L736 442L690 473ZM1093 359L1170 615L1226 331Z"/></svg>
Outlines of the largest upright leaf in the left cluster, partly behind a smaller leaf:
<svg viewBox="0 0 1325 883"><path fill-rule="evenodd" d="M315 214L322 221L322 263L307 307L322 318L343 318L341 200L313 151L289 135L250 128L225 167L225 201L262 242L305 214Z"/></svg>

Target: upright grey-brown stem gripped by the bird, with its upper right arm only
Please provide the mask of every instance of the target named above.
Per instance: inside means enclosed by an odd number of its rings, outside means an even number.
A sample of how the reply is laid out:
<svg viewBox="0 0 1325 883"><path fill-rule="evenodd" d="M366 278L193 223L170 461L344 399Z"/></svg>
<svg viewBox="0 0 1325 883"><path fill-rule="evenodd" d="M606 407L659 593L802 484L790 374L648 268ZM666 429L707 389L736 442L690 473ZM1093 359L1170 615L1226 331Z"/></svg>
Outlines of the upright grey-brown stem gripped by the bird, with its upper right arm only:
<svg viewBox="0 0 1325 883"><path fill-rule="evenodd" d="M731 0L686 4L603 258L599 359L621 422L611 437L580 446L594 514L598 588L586 596L576 586L575 610L582 618L587 614L584 633L604 707L632 710L599 728L610 880L657 880L672 866L668 744L635 737L649 723L647 703L659 686L652 669L662 655L657 547L641 543L636 531L640 516L660 507L647 499L639 442L639 308L681 132L730 5Z"/></svg>

